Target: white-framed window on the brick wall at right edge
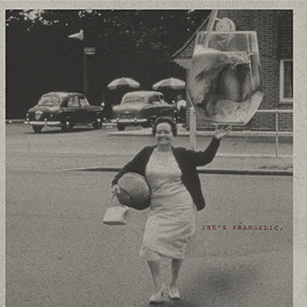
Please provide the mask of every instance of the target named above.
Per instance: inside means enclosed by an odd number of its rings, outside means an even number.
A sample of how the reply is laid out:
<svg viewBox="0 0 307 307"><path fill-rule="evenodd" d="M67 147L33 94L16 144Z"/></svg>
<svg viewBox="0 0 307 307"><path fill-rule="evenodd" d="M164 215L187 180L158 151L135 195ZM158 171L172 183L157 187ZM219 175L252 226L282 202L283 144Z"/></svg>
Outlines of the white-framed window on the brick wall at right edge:
<svg viewBox="0 0 307 307"><path fill-rule="evenodd" d="M293 60L280 63L280 101L293 102Z"/></svg>

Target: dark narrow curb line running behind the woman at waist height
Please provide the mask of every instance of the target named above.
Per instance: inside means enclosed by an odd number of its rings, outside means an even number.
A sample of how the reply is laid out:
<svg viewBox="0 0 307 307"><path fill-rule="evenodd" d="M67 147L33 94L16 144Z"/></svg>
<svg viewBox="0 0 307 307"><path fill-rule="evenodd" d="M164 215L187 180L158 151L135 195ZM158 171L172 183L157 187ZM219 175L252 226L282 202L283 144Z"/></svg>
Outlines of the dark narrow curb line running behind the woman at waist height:
<svg viewBox="0 0 307 307"><path fill-rule="evenodd" d="M69 169L70 172L119 172L120 167L92 167ZM198 173L223 174L223 175L257 175L257 176L293 176L292 171L255 171L255 170L226 170L226 169L207 169L198 170Z"/></svg>

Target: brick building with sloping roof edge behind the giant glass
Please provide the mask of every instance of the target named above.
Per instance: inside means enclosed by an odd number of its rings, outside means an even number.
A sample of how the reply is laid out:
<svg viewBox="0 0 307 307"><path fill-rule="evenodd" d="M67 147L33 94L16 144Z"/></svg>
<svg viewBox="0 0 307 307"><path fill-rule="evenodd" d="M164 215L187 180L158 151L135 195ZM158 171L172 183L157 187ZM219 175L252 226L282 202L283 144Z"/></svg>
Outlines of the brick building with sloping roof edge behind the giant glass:
<svg viewBox="0 0 307 307"><path fill-rule="evenodd" d="M265 97L259 109L293 109L293 11L292 10L219 10L218 19L228 18L236 31L256 31L263 70ZM196 35L206 31L209 18L200 25L172 59L186 70L191 70L191 57ZM216 30L216 23L213 30ZM189 112L189 110L188 110ZM189 118L189 116L187 116ZM293 113L280 113L278 126L281 131L293 131ZM209 128L197 116L197 128ZM244 127L237 129L275 129L274 113L256 113Z"/></svg>

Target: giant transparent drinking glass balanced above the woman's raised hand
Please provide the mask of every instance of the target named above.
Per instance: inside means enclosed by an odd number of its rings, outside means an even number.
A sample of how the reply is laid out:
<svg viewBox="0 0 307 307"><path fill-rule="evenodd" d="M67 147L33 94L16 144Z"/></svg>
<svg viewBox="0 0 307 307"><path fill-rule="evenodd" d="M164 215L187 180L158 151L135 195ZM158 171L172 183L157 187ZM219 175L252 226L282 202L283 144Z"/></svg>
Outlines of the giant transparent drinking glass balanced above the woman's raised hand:
<svg viewBox="0 0 307 307"><path fill-rule="evenodd" d="M188 96L211 124L246 125L264 97L256 32L200 32Z"/></svg>

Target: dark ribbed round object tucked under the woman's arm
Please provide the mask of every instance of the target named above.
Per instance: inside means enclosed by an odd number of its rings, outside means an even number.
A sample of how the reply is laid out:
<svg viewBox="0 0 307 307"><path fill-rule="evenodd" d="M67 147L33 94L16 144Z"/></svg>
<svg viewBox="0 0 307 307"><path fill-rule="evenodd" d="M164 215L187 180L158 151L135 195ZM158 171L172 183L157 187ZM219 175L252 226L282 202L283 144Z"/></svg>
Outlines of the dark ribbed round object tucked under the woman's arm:
<svg viewBox="0 0 307 307"><path fill-rule="evenodd" d="M122 205L137 210L150 206L151 191L144 176L136 172L126 172L118 179L117 184L120 193L116 196Z"/></svg>

